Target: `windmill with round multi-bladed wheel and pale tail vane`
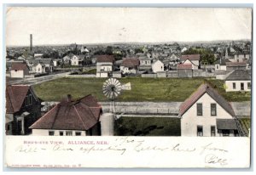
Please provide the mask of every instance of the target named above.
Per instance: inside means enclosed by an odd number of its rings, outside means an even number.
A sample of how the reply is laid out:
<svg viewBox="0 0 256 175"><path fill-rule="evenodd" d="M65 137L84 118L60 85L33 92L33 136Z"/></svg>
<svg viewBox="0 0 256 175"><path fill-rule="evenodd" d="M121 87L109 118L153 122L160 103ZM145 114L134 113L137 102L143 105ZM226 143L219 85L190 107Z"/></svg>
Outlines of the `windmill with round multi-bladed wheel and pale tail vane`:
<svg viewBox="0 0 256 175"><path fill-rule="evenodd" d="M109 78L103 83L102 91L108 99L111 99L110 109L112 109L113 115L115 115L114 100L122 90L131 90L131 83L128 82L122 85L116 78Z"/></svg>

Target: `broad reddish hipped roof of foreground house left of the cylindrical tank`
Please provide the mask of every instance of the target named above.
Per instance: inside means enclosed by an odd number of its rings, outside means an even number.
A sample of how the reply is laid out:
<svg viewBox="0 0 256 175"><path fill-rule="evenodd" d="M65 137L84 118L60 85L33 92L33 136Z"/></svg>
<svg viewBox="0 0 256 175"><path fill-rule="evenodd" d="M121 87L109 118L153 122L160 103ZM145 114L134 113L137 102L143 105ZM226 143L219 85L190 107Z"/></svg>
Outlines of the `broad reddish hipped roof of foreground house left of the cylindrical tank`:
<svg viewBox="0 0 256 175"><path fill-rule="evenodd" d="M78 101L63 100L30 128L85 131L96 125L101 111L101 105L91 95Z"/></svg>

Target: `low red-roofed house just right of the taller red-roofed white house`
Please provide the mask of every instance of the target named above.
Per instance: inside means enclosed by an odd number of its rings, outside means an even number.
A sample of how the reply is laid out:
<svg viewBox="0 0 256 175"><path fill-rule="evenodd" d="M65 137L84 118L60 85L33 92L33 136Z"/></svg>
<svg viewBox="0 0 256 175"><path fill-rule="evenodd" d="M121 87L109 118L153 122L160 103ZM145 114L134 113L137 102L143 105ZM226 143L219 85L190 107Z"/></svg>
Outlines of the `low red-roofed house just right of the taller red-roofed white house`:
<svg viewBox="0 0 256 175"><path fill-rule="evenodd" d="M120 65L120 71L123 74L137 74L140 60L137 58L123 59Z"/></svg>

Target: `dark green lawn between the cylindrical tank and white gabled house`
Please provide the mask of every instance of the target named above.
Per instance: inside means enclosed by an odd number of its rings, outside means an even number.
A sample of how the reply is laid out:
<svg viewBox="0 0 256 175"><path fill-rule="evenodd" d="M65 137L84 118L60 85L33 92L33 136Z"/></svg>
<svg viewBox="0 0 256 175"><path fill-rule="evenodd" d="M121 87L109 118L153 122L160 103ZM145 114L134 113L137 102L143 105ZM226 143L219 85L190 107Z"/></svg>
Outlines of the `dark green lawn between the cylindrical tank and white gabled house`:
<svg viewBox="0 0 256 175"><path fill-rule="evenodd" d="M180 119L167 117L121 117L115 121L115 136L180 136Z"/></svg>

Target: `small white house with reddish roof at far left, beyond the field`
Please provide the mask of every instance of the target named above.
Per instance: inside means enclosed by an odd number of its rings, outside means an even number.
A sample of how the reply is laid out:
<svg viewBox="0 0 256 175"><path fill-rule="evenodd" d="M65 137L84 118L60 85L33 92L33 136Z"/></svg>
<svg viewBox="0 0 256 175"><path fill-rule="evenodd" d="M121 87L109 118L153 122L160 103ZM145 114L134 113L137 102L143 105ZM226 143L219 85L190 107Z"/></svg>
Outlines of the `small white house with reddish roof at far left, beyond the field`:
<svg viewBox="0 0 256 175"><path fill-rule="evenodd" d="M24 78L26 75L29 75L29 68L26 63L13 62L11 64L10 76L12 78Z"/></svg>

